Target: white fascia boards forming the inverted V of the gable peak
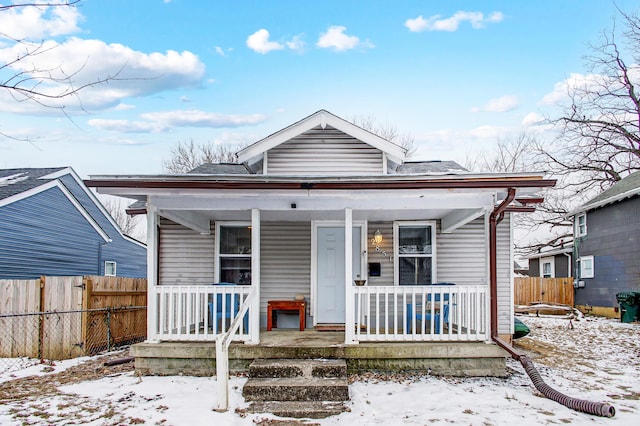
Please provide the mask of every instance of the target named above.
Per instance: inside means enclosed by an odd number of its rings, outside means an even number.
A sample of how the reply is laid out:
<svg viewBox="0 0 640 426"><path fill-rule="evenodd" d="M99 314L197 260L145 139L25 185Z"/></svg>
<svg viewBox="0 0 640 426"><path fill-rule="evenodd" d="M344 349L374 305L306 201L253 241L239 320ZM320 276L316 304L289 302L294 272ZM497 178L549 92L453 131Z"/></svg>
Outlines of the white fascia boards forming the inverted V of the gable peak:
<svg viewBox="0 0 640 426"><path fill-rule="evenodd" d="M250 161L253 157L257 157L262 153L313 129L316 126L322 126L322 128L325 128L327 125L353 136L354 138L361 140L382 152L385 152L390 159L396 162L402 163L404 161L406 149L364 130L353 123L343 120L328 111L320 110L239 151L238 162L244 163L246 161Z"/></svg>

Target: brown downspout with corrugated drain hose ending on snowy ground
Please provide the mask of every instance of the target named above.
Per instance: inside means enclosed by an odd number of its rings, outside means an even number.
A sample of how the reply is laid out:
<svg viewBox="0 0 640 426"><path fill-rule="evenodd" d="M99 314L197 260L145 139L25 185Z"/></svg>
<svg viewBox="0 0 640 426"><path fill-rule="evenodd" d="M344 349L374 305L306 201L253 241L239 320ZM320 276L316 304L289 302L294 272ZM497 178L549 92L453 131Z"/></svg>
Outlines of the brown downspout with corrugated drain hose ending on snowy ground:
<svg viewBox="0 0 640 426"><path fill-rule="evenodd" d="M519 354L513 346L498 336L498 265L496 256L497 228L498 223L500 223L504 217L505 209L513 201L515 195L516 189L509 188L507 198L495 207L491 215L489 215L489 293L491 298L491 339L498 346L507 351L513 359L520 361L520 364L524 367L527 375L531 378L533 385L547 398L582 413L593 414L601 417L613 417L616 414L616 409L611 404L572 398L547 385L529 357Z"/></svg>

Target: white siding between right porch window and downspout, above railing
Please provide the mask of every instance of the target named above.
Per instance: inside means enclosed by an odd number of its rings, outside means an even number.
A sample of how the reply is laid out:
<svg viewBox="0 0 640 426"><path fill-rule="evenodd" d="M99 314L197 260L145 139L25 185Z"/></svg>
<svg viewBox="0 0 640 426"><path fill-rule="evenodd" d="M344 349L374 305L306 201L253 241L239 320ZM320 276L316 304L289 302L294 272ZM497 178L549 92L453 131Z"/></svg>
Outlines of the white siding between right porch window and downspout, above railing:
<svg viewBox="0 0 640 426"><path fill-rule="evenodd" d="M488 285L484 217L441 234L438 222L437 280L457 285Z"/></svg>

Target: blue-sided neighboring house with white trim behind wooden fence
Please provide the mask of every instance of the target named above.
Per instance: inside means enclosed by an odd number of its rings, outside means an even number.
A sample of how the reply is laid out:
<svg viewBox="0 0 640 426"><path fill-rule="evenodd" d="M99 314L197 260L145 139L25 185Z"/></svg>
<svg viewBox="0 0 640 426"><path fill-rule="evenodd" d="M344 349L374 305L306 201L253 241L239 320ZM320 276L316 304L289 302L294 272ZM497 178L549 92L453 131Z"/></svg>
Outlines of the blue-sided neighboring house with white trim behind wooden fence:
<svg viewBox="0 0 640 426"><path fill-rule="evenodd" d="M0 279L145 278L146 253L70 167L0 170Z"/></svg>

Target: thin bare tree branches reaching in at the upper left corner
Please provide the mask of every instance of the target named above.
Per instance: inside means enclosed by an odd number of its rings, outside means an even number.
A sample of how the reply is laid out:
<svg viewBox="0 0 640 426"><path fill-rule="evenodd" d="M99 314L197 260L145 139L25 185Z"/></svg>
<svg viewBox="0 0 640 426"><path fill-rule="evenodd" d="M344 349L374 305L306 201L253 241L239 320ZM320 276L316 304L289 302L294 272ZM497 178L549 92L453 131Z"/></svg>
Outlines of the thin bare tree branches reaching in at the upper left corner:
<svg viewBox="0 0 640 426"><path fill-rule="evenodd" d="M36 1L0 5L0 13L25 7L76 7L80 1ZM57 109L70 118L65 110L64 102L60 102L60 100L77 98L84 89L118 80L118 73L116 73L79 82L76 77L82 71L82 67L69 71L65 69L64 64L53 68L38 66L38 56L45 55L51 49L44 41L31 43L12 37L11 34L3 33L1 30L0 36L22 47L21 52L15 58L6 63L0 62L0 75L3 76L0 79L0 89L6 90L16 102L32 102L44 108ZM0 136L19 139L2 132L0 132Z"/></svg>

